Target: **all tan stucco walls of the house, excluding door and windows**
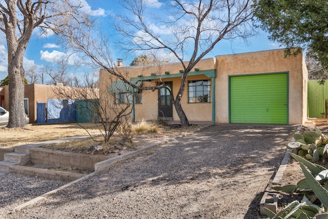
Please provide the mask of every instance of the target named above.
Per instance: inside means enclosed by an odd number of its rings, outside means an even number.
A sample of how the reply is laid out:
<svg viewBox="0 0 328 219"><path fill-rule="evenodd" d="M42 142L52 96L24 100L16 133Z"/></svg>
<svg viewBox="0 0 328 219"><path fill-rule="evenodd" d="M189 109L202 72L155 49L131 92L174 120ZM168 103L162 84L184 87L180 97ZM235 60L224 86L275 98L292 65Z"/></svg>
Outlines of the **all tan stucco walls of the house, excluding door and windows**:
<svg viewBox="0 0 328 219"><path fill-rule="evenodd" d="M289 73L289 124L304 124L307 111L307 82L308 72L306 70L302 54L297 56L284 57L284 50L270 50L250 53L240 53L231 55L220 55L215 58L203 59L195 68L199 71L216 70L215 79L215 122L229 123L229 75L263 74L263 73ZM138 75L150 76L179 74L182 70L180 63L167 63L159 66L133 66L117 68L117 71L128 78L135 78ZM127 74L128 73L128 74ZM100 84L102 89L110 85L110 80L104 75L108 72L100 70ZM206 75L188 76L187 81L211 79ZM160 79L144 82L144 86L153 85ZM177 94L180 87L181 76L163 78L165 82L173 82L173 93ZM213 81L211 82L213 89ZM135 120L154 120L158 113L158 91L142 91L142 104L135 105ZM182 108L189 121L212 121L212 103L188 103L188 85L182 97ZM173 120L179 121L177 113L173 107Z"/></svg>

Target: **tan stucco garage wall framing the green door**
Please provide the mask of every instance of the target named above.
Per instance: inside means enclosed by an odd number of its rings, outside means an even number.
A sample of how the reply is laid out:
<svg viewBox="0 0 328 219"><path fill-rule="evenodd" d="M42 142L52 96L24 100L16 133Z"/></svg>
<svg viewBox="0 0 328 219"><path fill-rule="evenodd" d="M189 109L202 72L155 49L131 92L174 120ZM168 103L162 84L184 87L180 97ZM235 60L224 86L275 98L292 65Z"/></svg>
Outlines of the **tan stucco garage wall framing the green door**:
<svg viewBox="0 0 328 219"><path fill-rule="evenodd" d="M249 52L216 57L216 123L229 122L228 76L289 72L289 124L304 124L308 72L302 54L284 58L284 50Z"/></svg>

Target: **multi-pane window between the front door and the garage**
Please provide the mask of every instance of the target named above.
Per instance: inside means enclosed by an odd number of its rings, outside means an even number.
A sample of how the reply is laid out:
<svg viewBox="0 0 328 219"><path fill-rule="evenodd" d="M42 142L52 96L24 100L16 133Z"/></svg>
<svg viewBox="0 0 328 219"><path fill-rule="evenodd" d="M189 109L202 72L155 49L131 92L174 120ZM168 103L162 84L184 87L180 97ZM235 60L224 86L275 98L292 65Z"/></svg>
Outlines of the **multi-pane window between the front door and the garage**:
<svg viewBox="0 0 328 219"><path fill-rule="evenodd" d="M211 103L211 81L189 81L188 103Z"/></svg>

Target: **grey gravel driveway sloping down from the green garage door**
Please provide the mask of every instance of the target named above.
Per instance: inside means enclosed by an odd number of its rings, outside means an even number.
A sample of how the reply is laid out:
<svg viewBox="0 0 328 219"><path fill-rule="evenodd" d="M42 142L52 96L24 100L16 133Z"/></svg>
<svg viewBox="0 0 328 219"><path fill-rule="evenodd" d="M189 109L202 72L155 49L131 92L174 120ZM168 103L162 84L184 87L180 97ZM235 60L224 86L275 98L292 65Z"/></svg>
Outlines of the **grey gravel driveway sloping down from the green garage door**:
<svg viewBox="0 0 328 219"><path fill-rule="evenodd" d="M6 205L1 206L0 217L261 218L262 192L295 129L211 126L97 172L22 210L8 214ZM10 176L0 176L8 177L0 183L10 187Z"/></svg>

